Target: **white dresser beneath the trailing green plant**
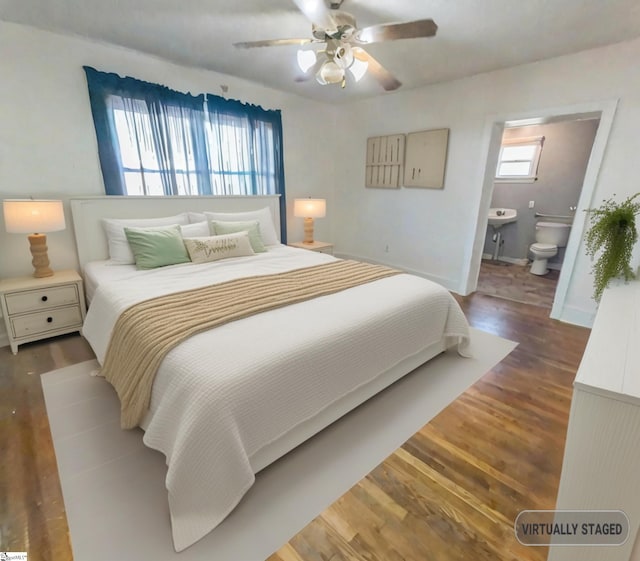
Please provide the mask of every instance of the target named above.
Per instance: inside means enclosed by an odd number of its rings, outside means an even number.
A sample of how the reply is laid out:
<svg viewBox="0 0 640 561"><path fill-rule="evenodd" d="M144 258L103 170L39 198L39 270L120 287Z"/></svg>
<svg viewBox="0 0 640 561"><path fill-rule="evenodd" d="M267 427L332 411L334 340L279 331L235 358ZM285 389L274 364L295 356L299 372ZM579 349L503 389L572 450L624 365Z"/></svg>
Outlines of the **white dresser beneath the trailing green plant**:
<svg viewBox="0 0 640 561"><path fill-rule="evenodd" d="M640 282L605 290L576 375L556 509L623 510L629 540L548 561L640 561ZM633 552L633 557L632 557Z"/></svg>

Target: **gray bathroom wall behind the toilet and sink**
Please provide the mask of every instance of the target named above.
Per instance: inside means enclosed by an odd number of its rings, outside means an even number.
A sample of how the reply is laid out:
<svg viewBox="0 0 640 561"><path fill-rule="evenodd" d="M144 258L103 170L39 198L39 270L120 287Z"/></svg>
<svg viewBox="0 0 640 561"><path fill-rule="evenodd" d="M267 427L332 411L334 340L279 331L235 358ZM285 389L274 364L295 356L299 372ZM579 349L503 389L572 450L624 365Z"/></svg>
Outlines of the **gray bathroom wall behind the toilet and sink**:
<svg viewBox="0 0 640 561"><path fill-rule="evenodd" d="M501 257L526 259L529 246L535 241L535 224L543 218L535 213L573 215L569 207L578 204L584 174L591 155L593 139L598 128L597 119L564 121L526 127L508 128L504 139L544 136L538 165L538 180L533 183L495 183L492 207L515 208L518 221L502 227L504 245ZM529 208L534 201L534 208ZM578 209L576 212L582 212ZM493 254L493 229L487 227L484 252ZM549 260L559 268L564 248Z"/></svg>

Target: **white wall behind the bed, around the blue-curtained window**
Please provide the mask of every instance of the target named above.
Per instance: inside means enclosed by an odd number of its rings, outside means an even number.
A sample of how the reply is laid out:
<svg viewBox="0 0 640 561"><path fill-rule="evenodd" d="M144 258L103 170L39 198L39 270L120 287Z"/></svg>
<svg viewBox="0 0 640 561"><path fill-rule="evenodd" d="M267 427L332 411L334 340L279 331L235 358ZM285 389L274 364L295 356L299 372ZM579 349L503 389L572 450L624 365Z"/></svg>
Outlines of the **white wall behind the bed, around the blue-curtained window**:
<svg viewBox="0 0 640 561"><path fill-rule="evenodd" d="M335 130L330 106L233 77L185 68L126 49L0 22L0 199L104 195L87 84L89 65L192 93L221 95L281 109L289 240L303 237L292 216L296 196L328 199L316 237L330 239L333 151L318 142ZM71 216L67 229L47 236L55 269L76 268ZM0 278L29 275L26 235L7 234L0 213ZM0 326L0 345L3 325Z"/></svg>

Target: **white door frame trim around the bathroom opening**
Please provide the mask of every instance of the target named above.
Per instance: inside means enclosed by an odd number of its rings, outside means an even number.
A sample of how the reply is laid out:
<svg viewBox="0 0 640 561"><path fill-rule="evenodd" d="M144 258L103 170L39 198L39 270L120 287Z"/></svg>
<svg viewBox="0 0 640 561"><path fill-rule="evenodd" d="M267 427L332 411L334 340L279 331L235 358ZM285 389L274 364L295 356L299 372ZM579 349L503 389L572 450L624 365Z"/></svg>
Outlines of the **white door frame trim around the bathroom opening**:
<svg viewBox="0 0 640 561"><path fill-rule="evenodd" d="M594 102L561 108L550 108L527 114L492 116L487 120L483 138L483 153L487 154L483 169L482 193L478 208L476 222L476 234L473 244L469 246L469 259L467 261L467 284L465 293L475 292L478 285L480 266L484 243L486 239L489 209L494 191L495 170L498 163L498 154L502 143L505 128L513 126L539 125L548 122L575 121L579 119L599 119L599 126L594 138L587 169L582 183L582 190L577 204L571 233L564 252L562 268L560 270L557 288L555 291L550 317L574 323L590 326L592 317L583 312L576 311L566 304L567 295L570 292L573 269L582 237L586 227L586 215L582 209L590 208L593 193L605 148L609 139L609 133L613 124L617 100Z"/></svg>

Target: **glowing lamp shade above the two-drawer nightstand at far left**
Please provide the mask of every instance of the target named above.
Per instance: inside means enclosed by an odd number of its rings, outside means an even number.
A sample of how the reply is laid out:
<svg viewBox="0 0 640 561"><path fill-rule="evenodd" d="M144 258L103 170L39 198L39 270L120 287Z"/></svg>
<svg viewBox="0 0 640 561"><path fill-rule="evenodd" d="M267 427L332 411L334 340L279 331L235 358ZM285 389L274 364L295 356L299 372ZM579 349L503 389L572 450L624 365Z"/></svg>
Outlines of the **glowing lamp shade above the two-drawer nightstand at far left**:
<svg viewBox="0 0 640 561"><path fill-rule="evenodd" d="M2 207L9 233L33 234L65 229L62 201L9 199L2 202Z"/></svg>

